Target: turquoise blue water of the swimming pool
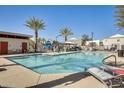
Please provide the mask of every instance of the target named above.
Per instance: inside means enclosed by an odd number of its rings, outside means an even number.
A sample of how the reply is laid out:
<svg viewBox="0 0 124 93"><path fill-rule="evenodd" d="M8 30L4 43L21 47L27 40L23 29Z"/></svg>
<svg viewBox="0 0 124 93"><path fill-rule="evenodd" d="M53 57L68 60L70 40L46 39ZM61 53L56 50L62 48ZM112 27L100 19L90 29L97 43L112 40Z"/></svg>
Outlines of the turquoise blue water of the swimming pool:
<svg viewBox="0 0 124 93"><path fill-rule="evenodd" d="M56 56L16 56L7 59L42 74L82 72L85 68L100 66L105 57L105 53L81 52Z"/></svg>

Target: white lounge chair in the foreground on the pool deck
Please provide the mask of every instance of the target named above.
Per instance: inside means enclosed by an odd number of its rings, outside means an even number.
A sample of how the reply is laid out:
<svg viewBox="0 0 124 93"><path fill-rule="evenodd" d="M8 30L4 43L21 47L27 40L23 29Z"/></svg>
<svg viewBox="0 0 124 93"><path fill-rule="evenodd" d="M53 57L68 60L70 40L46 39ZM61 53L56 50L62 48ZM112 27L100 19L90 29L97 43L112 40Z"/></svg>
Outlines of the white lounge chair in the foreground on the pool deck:
<svg viewBox="0 0 124 93"><path fill-rule="evenodd" d="M114 76L97 67L89 68L87 72L100 80L106 87L118 87L122 85L120 75Z"/></svg>

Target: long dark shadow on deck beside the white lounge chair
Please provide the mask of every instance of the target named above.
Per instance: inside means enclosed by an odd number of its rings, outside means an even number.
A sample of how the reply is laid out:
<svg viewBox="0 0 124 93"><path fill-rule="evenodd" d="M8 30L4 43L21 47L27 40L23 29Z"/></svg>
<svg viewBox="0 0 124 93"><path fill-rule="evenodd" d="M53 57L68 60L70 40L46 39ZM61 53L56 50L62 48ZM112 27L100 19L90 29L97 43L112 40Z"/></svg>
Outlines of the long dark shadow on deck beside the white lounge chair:
<svg viewBox="0 0 124 93"><path fill-rule="evenodd" d="M80 73L74 73L74 74L70 74L68 76L65 76L64 78L60 78L60 79L56 79L53 81L49 81L49 82L45 82L42 84L38 84L35 86L31 86L30 88L51 88L57 85L61 85L65 83L65 86L73 84L83 78L86 78L87 76L89 76L88 73L86 72L80 72ZM41 76L42 79L42 76Z"/></svg>

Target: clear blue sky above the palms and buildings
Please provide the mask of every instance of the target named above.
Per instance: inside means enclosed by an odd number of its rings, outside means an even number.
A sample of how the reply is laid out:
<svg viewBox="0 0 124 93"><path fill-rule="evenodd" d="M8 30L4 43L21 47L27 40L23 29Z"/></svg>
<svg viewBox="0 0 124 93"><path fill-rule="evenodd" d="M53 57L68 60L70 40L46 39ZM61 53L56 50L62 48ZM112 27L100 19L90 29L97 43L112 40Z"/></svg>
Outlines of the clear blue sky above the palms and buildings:
<svg viewBox="0 0 124 93"><path fill-rule="evenodd" d="M115 6L81 5L81 6L0 6L0 31L17 32L34 35L25 26L26 20L36 17L45 22L45 30L39 31L39 37L55 39L60 29L68 27L74 35L80 38L83 34L94 39L103 39L124 31L118 31L115 26ZM58 40L64 40L58 37Z"/></svg>

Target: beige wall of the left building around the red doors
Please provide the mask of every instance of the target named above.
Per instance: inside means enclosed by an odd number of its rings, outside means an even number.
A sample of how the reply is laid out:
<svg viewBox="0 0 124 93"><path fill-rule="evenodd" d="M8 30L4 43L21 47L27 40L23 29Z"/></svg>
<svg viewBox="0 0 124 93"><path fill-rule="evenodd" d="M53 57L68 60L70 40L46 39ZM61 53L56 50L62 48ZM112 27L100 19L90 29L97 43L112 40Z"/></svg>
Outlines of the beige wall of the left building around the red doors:
<svg viewBox="0 0 124 93"><path fill-rule="evenodd" d="M0 42L8 42L8 52L22 50L22 42L27 43L27 49L29 49L29 40L26 39L13 39L13 38L0 38Z"/></svg>

